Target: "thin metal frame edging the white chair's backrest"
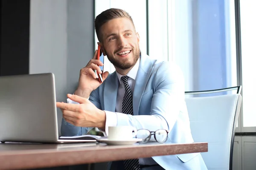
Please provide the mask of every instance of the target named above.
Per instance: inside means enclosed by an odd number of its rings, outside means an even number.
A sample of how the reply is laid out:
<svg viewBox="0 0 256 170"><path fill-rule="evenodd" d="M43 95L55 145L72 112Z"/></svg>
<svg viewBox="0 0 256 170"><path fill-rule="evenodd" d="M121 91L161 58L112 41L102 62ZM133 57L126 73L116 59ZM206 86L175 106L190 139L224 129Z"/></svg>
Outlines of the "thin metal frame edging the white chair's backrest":
<svg viewBox="0 0 256 170"><path fill-rule="evenodd" d="M208 90L208 91L185 91L185 94L210 94L210 93L218 93L218 92L224 92L224 91L232 91L236 90L236 94L241 93L241 88L242 86L235 86L235 87L230 87L230 88L221 88L221 89L215 89L215 90ZM236 122L239 117L239 112L238 108L236 106L236 114L235 114L235 119L233 122L233 130L232 130L232 137L231 137L231 144L230 144L230 170L233 168L233 148L234 148L234 140L235 140L235 133L236 133Z"/></svg>

